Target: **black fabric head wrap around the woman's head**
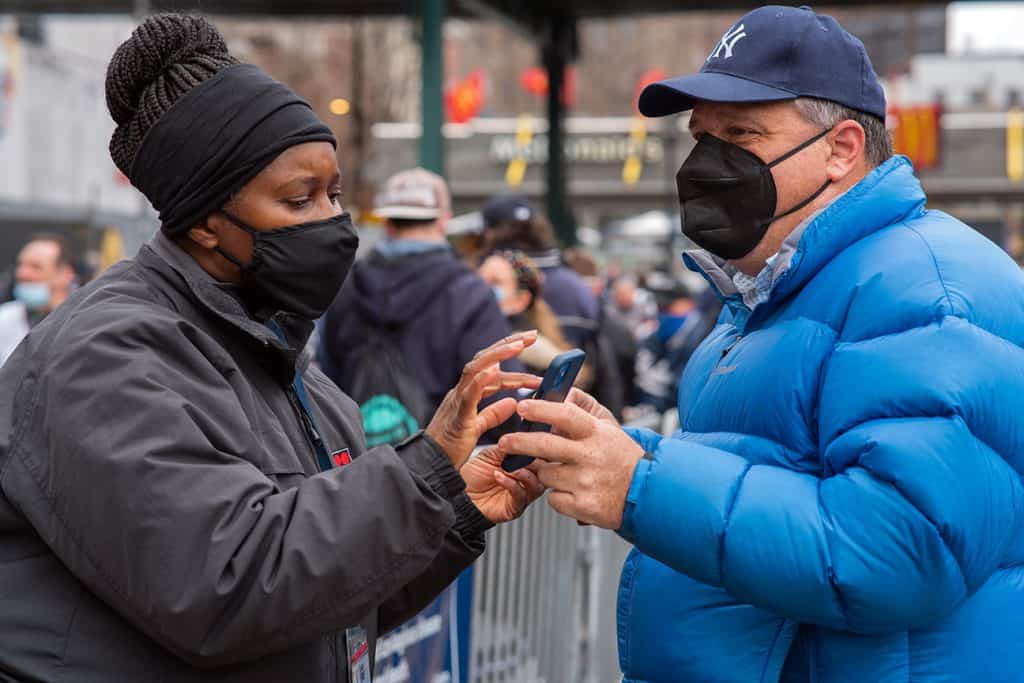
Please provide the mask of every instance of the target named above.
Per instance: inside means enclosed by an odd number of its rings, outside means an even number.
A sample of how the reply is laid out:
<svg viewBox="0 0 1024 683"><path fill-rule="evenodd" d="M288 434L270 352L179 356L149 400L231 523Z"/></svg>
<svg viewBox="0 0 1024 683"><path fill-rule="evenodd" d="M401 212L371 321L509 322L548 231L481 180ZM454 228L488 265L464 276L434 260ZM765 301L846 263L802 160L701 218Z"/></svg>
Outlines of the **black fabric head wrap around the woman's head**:
<svg viewBox="0 0 1024 683"><path fill-rule="evenodd" d="M220 209L285 150L334 134L304 99L258 67L200 83L150 129L128 174L179 234Z"/></svg>

